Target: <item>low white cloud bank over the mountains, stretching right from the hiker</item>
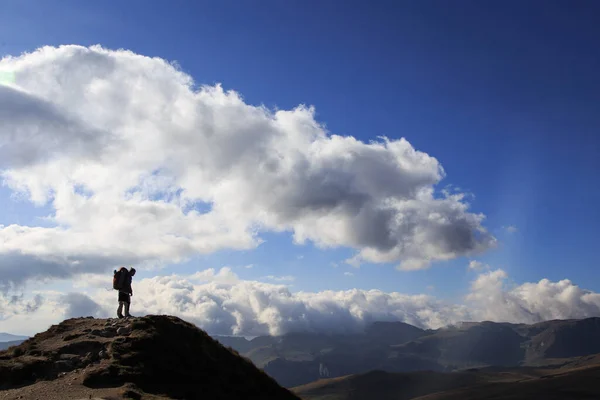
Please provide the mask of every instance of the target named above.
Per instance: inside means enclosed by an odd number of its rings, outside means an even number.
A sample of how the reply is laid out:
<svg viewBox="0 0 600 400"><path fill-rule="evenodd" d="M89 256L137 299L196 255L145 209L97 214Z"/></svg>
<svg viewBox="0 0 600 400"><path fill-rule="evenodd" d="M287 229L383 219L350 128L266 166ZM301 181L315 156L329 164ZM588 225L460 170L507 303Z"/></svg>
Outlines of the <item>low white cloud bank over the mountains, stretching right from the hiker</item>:
<svg viewBox="0 0 600 400"><path fill-rule="evenodd" d="M569 280L510 285L500 269L477 275L461 304L380 290L293 293L285 285L239 279L195 285L185 276L144 279L136 286L134 308L183 315L218 334L357 332L373 321L440 328L461 321L534 323L600 315L598 293ZM112 294L103 296L114 303Z"/></svg>

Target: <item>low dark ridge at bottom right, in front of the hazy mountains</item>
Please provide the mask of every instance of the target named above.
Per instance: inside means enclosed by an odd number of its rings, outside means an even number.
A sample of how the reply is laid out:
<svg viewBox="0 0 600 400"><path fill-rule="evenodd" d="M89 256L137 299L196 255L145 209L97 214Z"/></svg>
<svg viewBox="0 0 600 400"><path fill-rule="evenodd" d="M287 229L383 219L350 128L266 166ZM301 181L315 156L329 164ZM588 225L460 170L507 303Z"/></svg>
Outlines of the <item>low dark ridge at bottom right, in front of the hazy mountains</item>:
<svg viewBox="0 0 600 400"><path fill-rule="evenodd" d="M598 361L598 360L596 360ZM324 379L293 389L304 400L485 400L600 398L600 364L566 369L484 368Z"/></svg>

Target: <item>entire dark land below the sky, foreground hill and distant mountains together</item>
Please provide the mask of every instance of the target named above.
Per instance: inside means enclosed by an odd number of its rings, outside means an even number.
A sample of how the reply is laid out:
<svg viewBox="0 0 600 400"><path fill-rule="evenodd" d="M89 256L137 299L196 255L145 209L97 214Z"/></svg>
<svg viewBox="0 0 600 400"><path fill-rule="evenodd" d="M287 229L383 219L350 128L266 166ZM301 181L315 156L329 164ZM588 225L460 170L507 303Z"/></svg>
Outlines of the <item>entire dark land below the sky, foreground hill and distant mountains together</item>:
<svg viewBox="0 0 600 400"><path fill-rule="evenodd" d="M251 340L210 338L170 316L74 318L0 352L0 395L591 399L600 396L598 337L596 317L468 322L437 330L376 322L362 334L298 332Z"/></svg>

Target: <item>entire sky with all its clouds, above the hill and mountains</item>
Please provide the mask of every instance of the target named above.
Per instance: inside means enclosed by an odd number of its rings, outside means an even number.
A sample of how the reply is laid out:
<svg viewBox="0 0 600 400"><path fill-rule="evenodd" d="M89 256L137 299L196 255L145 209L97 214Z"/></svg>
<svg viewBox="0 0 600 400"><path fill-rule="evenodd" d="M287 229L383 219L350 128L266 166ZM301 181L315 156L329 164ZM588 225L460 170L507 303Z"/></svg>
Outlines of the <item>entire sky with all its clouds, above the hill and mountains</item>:
<svg viewBox="0 0 600 400"><path fill-rule="evenodd" d="M3 2L0 331L600 315L598 12Z"/></svg>

